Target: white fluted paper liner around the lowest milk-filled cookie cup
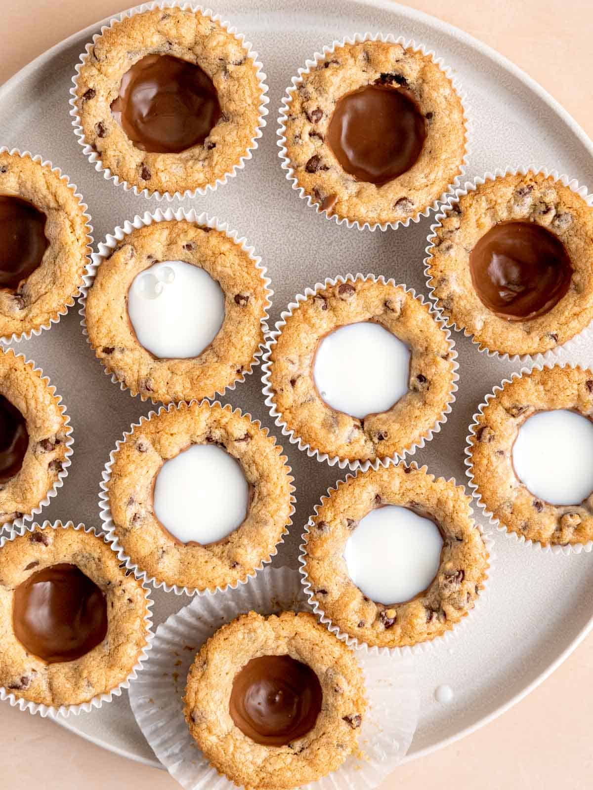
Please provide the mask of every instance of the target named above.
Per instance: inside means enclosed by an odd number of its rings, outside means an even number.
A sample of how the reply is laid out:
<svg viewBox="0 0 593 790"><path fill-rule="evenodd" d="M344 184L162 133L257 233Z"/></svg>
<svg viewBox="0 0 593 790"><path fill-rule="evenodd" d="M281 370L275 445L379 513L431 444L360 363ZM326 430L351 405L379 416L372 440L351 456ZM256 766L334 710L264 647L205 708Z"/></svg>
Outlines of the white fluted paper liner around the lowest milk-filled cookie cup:
<svg viewBox="0 0 593 790"><path fill-rule="evenodd" d="M391 460L381 461L381 465L387 468L391 465L394 465L394 461ZM406 466L409 466L409 464L406 464ZM428 467L426 465L418 468L420 469L421 472L428 473ZM307 544L306 544L307 535L310 532L311 527L313 526L313 521L317 516L317 513L319 513L319 508L323 505L323 503L326 502L326 500L330 497L332 493L338 491L338 486L341 483L346 483L348 480L351 480L353 477L357 477L359 474L361 474L360 469L357 470L357 472L355 472L354 474L346 475L346 477L343 478L342 480L338 480L338 482L335 483L334 486L329 487L327 489L327 494L323 495L322 498L319 500L319 502L313 508L314 513L309 518L307 524L304 526L304 532L301 535L303 543L300 544L299 546L300 549L299 572L301 574L300 581L301 584L303 585L304 594L307 596L309 606L315 612L315 615L318 616L319 623L323 623L324 625L326 625L327 629L330 630L332 634L335 634L335 636L338 639L340 639L341 641L345 641L346 645L348 645L349 647L355 650L364 649L367 653L372 655L383 655L383 653L387 653L390 656L401 657L401 656L414 656L414 654L417 655L418 653L426 653L429 650L438 649L441 646L448 647L451 641L453 641L455 638L459 636L460 633L466 630L468 621L470 621L470 619L474 616L474 611L476 611L476 609L478 609L481 605L483 605L482 602L485 600L485 598L488 596L489 593L489 583L492 577L492 569L497 559L496 552L494 551L494 541L491 537L492 533L489 530L484 529L481 524L478 524L477 521L475 522L476 528L479 530L480 534L482 535L482 539L484 540L486 551L488 551L488 562L489 562L488 575L485 577L484 581L482 582L482 590L480 591L480 594L475 600L474 608L470 609L470 611L466 613L465 617L459 620L459 623L455 623L455 625L451 629L445 631L444 634L441 634L440 636L435 637L434 639L417 642L416 645L408 645L406 647L394 647L394 648L387 648L387 647L380 648L376 646L371 647L366 642L358 641L356 637L352 637L349 634L346 634L346 631L342 631L340 627L335 625L332 619L325 614L323 608L319 606L319 602L315 600L315 595L313 592L313 584L312 581L309 579L307 573ZM432 478L432 480L436 480L434 475L430 475L430 477ZM449 478L447 482L453 483L454 486L457 486L454 477ZM470 506L470 514L471 515L474 514L474 509L471 506Z"/></svg>

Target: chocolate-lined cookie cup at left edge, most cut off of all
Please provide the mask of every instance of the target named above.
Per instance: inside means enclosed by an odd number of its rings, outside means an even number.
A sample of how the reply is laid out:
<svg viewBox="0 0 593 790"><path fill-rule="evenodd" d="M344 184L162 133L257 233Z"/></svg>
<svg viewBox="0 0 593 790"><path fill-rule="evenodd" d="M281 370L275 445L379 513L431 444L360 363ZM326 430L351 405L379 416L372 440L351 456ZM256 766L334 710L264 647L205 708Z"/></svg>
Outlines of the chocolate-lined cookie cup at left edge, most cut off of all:
<svg viewBox="0 0 593 790"><path fill-rule="evenodd" d="M35 363L0 349L0 532L41 513L62 487L74 438L55 386Z"/></svg>

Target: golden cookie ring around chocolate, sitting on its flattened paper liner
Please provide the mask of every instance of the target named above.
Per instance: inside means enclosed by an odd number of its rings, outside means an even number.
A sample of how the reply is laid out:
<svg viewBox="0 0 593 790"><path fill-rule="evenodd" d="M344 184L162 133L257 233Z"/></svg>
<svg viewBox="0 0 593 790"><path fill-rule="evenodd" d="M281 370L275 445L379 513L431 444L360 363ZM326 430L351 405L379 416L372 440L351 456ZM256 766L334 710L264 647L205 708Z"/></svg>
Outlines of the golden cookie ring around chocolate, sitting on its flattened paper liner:
<svg viewBox="0 0 593 790"><path fill-rule="evenodd" d="M285 745L256 743L229 712L236 675L260 656L290 656L306 664L323 693L314 726ZM327 776L356 750L365 712L364 679L354 653L309 613L240 616L202 646L187 675L191 736L219 772L246 790L289 790Z"/></svg>

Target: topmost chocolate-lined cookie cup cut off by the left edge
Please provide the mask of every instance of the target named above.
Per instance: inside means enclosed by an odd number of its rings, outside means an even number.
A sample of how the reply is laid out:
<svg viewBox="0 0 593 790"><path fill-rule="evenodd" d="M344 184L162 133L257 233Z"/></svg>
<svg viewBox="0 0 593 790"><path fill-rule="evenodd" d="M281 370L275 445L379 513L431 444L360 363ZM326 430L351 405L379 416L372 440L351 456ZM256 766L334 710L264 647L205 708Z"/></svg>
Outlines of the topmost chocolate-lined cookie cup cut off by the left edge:
<svg viewBox="0 0 593 790"><path fill-rule="evenodd" d="M59 167L0 148L0 340L29 340L66 315L89 261L90 220Z"/></svg>

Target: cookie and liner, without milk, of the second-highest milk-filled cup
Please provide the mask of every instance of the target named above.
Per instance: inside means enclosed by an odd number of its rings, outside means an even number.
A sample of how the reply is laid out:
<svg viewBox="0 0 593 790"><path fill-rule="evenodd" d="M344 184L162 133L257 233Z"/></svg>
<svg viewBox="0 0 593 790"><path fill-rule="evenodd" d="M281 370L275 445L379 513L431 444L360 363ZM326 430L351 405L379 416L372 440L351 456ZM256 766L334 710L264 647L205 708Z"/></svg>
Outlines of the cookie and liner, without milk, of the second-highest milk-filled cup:
<svg viewBox="0 0 593 790"><path fill-rule="evenodd" d="M357 301L361 293L364 299ZM323 335L365 321L410 345L410 389L387 412L361 421L322 400L312 365ZM382 458L414 455L447 422L459 379L456 359L451 333L421 295L383 276L347 274L306 288L281 313L263 355L263 393L282 434L309 457L351 471L376 468ZM326 423L335 437L323 428Z"/></svg>

